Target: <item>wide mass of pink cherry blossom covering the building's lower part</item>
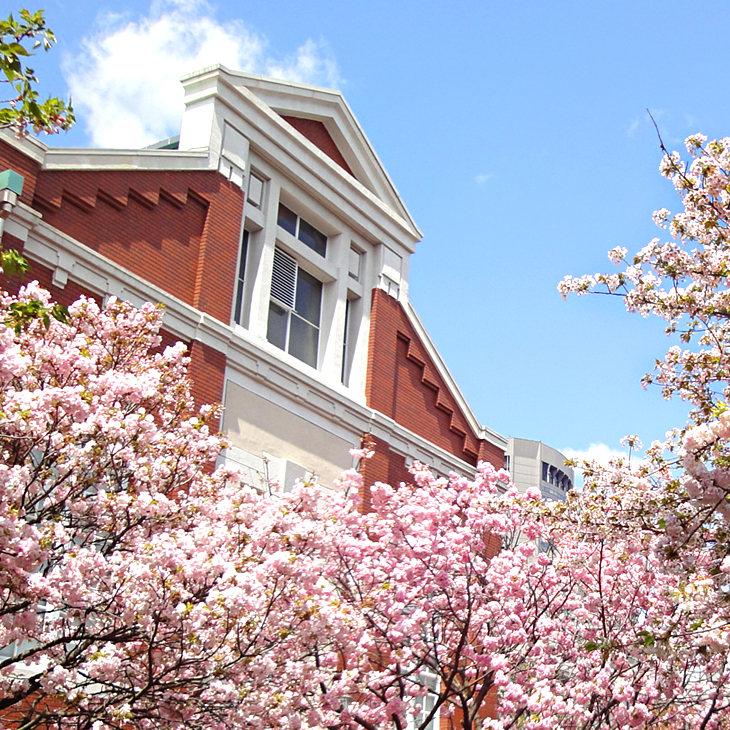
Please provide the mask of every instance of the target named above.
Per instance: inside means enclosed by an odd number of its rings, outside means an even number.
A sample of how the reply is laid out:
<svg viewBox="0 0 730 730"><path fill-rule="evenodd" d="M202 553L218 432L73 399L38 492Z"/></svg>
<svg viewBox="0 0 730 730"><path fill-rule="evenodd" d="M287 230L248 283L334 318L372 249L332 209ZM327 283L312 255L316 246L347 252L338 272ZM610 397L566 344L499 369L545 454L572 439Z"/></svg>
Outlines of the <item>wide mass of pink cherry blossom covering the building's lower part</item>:
<svg viewBox="0 0 730 730"><path fill-rule="evenodd" d="M3 725L720 727L720 523L677 550L647 476L567 506L487 465L416 465L367 514L356 471L260 494L211 472L159 309L0 311Z"/></svg>

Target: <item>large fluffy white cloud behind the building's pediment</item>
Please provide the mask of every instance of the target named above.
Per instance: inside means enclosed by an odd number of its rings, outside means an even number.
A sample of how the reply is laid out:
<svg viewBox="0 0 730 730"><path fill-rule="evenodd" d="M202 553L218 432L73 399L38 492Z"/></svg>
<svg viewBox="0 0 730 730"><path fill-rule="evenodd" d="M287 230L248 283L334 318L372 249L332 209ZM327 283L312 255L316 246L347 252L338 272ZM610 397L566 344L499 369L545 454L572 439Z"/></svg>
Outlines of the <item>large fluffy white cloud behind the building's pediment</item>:
<svg viewBox="0 0 730 730"><path fill-rule="evenodd" d="M141 147L176 134L183 74L221 63L231 69L322 86L341 84L324 42L306 40L275 58L265 36L240 20L219 22L204 0L155 0L147 16L106 15L64 74L90 143Z"/></svg>

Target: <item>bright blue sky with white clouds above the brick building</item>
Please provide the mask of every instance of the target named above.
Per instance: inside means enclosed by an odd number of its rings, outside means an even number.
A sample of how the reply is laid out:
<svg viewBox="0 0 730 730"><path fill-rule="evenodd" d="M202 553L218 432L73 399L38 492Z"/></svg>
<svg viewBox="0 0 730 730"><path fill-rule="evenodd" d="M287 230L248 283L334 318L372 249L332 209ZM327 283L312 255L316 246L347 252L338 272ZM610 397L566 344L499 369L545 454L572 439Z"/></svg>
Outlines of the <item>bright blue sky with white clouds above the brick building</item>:
<svg viewBox="0 0 730 730"><path fill-rule="evenodd" d="M59 43L36 70L73 91L79 117L51 144L174 134L174 79L217 60L339 86L424 233L411 299L482 423L577 451L684 423L682 404L639 383L670 344L662 323L607 297L563 302L556 286L609 269L614 246L642 248L661 233L652 212L677 209L647 108L675 149L730 134L730 3L45 9Z"/></svg>

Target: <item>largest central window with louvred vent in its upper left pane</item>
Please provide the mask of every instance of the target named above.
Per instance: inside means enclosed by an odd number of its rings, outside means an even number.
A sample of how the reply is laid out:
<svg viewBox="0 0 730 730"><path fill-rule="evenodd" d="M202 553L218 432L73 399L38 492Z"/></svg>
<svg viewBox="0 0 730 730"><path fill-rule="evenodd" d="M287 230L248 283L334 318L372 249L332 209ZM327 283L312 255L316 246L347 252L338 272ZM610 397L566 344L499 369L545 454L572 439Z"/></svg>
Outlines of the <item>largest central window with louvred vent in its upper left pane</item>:
<svg viewBox="0 0 730 730"><path fill-rule="evenodd" d="M269 342L316 368L321 309L322 282L275 248L266 334Z"/></svg>

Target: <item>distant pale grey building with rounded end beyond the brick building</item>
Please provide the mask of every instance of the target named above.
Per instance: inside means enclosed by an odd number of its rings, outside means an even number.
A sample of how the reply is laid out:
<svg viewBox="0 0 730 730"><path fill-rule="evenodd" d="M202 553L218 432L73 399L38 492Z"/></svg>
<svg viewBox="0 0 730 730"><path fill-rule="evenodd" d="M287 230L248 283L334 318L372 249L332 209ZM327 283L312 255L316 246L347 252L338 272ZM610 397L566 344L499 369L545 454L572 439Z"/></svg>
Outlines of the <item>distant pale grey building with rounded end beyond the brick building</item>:
<svg viewBox="0 0 730 730"><path fill-rule="evenodd" d="M564 454L542 441L510 438L505 468L521 492L538 487L545 499L565 501L574 479L573 468L565 465L565 459Z"/></svg>

